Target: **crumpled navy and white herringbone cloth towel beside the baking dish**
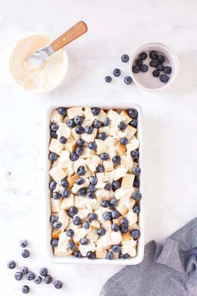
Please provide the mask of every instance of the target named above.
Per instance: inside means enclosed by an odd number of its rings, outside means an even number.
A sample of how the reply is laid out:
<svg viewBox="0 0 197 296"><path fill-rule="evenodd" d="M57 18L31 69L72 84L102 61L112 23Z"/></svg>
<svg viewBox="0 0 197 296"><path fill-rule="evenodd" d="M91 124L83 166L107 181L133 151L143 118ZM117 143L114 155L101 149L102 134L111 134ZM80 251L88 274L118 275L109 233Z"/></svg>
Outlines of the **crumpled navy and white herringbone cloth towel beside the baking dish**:
<svg viewBox="0 0 197 296"><path fill-rule="evenodd" d="M144 259L127 265L102 287L100 296L197 296L197 218L164 246L151 241Z"/></svg>

